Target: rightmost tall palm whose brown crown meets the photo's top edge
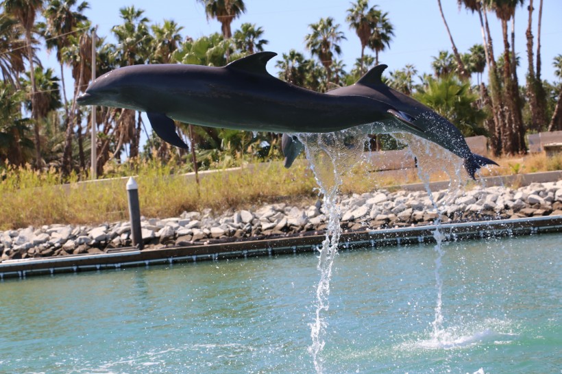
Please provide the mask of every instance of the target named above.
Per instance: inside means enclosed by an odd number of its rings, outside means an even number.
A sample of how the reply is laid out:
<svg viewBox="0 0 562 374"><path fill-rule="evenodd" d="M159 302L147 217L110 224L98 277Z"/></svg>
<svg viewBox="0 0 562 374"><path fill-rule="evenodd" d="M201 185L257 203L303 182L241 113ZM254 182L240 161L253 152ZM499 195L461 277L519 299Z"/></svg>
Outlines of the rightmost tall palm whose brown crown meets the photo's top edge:
<svg viewBox="0 0 562 374"><path fill-rule="evenodd" d="M523 0L489 0L492 10L502 23L502 36L504 39L504 98L511 114L511 128L506 128L502 134L502 151L507 154L524 153L526 151L524 142L524 124L522 119L519 88L515 81L515 53L509 49L509 38L507 36L507 23L515 16L515 8L523 3ZM510 54L511 53L511 54Z"/></svg>

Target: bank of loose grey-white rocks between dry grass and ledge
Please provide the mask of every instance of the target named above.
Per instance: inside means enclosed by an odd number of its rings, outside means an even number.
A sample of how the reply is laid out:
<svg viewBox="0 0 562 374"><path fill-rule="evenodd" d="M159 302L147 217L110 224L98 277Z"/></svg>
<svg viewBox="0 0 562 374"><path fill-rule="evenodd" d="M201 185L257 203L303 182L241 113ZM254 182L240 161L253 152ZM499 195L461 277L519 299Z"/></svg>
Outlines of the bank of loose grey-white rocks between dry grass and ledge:
<svg viewBox="0 0 562 374"><path fill-rule="evenodd" d="M438 210L434 208L434 202ZM562 180L530 184L512 190L502 186L476 186L462 195L441 190L426 192L377 190L363 195L341 196L341 226L355 231L410 225L514 219L562 215ZM143 219L146 246L188 246L217 241L254 240L321 232L326 212L315 205L264 205L256 210L184 212L178 218ZM106 223L97 227L45 225L0 232L0 262L8 259L103 253L131 245L130 223Z"/></svg>

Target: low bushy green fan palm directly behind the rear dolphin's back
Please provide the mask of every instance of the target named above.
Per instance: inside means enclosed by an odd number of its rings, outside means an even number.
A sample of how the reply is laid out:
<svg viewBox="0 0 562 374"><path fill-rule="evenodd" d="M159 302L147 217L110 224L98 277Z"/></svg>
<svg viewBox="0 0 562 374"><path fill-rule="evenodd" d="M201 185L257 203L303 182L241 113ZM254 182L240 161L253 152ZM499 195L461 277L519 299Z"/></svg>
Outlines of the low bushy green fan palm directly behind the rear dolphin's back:
<svg viewBox="0 0 562 374"><path fill-rule="evenodd" d="M472 92L469 82L461 82L452 74L428 79L427 86L419 88L413 97L451 121L463 136L486 133L482 124L487 113L474 105L478 94Z"/></svg>

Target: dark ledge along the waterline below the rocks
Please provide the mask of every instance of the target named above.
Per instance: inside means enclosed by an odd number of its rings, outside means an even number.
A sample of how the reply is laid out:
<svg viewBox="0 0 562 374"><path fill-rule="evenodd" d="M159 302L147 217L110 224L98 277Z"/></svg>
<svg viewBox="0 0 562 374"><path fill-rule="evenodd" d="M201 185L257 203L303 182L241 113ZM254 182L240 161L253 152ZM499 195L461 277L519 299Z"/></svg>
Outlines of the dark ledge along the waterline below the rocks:
<svg viewBox="0 0 562 374"><path fill-rule="evenodd" d="M435 242L433 232L436 225L403 227L399 229L376 229L361 232L347 232L341 235L339 247L356 249L384 247L389 245ZM466 240L498 236L522 236L531 234L562 232L562 216L541 216L525 219L506 219L467 223L447 223L439 226L443 240ZM271 240L254 240L214 245L193 245L138 251L122 249L99 255L69 255L56 258L32 258L5 261L0 264L0 279L8 277L25 278L31 275L54 275L121 269L130 266L173 264L247 258L258 255L282 255L313 252L319 249L323 235L297 236Z"/></svg>

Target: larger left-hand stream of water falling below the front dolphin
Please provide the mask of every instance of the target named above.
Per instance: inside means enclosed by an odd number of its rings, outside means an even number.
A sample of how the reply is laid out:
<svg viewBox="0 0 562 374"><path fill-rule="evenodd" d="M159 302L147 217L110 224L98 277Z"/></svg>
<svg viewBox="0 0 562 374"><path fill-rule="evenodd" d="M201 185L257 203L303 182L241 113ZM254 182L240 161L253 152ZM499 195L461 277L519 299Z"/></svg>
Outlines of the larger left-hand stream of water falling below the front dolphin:
<svg viewBox="0 0 562 374"><path fill-rule="evenodd" d="M304 144L310 169L313 170L319 192L323 195L322 210L328 217L326 238L319 249L317 269L320 271L320 280L316 288L315 320L310 323L312 344L308 347L316 372L322 373L321 351L325 345L323 336L328 325L323 314L330 308L328 296L330 295L332 265L337 255L341 236L337 194L343 182L343 175L349 172L363 155L365 136L358 129L328 134L298 134L297 136Z"/></svg>

